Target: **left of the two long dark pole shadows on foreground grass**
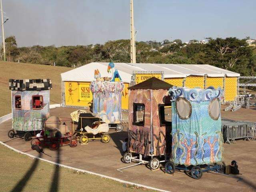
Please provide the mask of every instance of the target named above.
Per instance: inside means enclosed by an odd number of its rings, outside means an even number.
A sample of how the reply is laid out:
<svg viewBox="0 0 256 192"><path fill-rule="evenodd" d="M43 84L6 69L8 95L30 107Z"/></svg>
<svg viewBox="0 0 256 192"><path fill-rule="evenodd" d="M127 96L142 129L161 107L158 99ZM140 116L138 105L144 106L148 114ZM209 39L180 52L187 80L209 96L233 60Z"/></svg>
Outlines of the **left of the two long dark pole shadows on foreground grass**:
<svg viewBox="0 0 256 192"><path fill-rule="evenodd" d="M42 153L38 155L40 158L42 156ZM11 190L11 192L20 192L22 189L26 186L28 180L32 176L33 172L36 170L36 167L38 166L39 159L35 159L30 169L26 172L24 177L16 184L16 186Z"/></svg>

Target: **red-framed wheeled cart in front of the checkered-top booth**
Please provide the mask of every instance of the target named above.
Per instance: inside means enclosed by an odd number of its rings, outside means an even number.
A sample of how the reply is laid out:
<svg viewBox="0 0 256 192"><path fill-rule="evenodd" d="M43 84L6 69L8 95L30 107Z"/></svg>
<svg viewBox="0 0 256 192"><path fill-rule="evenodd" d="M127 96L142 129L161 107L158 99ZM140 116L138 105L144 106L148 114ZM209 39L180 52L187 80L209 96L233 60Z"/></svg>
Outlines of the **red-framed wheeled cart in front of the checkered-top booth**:
<svg viewBox="0 0 256 192"><path fill-rule="evenodd" d="M61 137L50 137L46 135L46 123L56 123L56 124L63 124L65 123L66 127L67 124L71 124L72 128L70 130L73 130L74 124L72 123L71 118L60 118L60 122L46 122L46 118L38 118L34 119L34 122L41 121L44 127L42 128L44 130L44 135L40 137L35 137L31 140L31 146L37 145L42 147L49 147L50 150L57 150L59 146L63 146L64 144L68 144L70 147L76 147L77 141L76 139L73 139L73 133L68 132L65 135L62 135Z"/></svg>

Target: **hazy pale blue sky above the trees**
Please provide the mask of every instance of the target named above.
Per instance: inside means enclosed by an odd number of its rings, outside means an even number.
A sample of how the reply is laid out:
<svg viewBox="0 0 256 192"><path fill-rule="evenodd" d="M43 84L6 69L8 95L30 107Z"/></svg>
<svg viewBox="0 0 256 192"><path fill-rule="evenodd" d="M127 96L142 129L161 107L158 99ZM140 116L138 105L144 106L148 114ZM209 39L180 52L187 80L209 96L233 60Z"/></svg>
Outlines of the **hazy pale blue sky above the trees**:
<svg viewBox="0 0 256 192"><path fill-rule="evenodd" d="M2 0L18 46L130 38L130 0ZM256 38L256 0L134 0L136 40Z"/></svg>

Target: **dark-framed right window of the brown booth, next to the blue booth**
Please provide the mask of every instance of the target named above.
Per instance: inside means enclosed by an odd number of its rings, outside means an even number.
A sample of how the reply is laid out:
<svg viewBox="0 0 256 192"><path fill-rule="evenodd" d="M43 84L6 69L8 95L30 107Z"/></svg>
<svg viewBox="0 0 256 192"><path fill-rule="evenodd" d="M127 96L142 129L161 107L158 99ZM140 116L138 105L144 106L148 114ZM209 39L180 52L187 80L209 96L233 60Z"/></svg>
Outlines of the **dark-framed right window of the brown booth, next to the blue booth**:
<svg viewBox="0 0 256 192"><path fill-rule="evenodd" d="M172 125L172 105L158 104L158 112L159 112L160 126L171 126Z"/></svg>

